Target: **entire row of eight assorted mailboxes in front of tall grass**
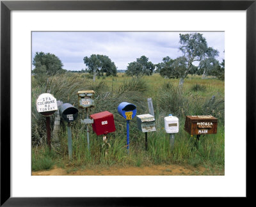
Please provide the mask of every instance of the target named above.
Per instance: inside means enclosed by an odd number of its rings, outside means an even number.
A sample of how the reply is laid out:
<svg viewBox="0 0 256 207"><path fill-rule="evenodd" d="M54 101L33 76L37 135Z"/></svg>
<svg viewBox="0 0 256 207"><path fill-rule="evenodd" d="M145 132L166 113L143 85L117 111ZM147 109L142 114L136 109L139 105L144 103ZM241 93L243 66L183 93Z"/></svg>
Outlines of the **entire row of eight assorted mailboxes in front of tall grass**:
<svg viewBox="0 0 256 207"><path fill-rule="evenodd" d="M88 112L89 107L94 107L94 91L78 91L79 107L85 108ZM50 116L57 110L56 98L50 94L42 94L36 100L36 109L44 116ZM77 119L78 110L71 104L60 105L60 115L68 124ZM129 148L129 121L136 116L136 105L128 102L122 102L117 107L118 113L127 121L127 148ZM115 132L115 121L113 114L108 111L99 112L90 115L91 119L84 119L83 123L92 123L93 132L97 135L106 135ZM156 131L155 118L151 114L137 115L137 127L141 132ZM70 126L70 125L69 125ZM87 126L88 127L88 126ZM186 116L185 130L191 135L216 134L218 119L213 116ZM172 114L164 118L164 130L168 134L179 132L179 119ZM88 132L88 130L87 130Z"/></svg>

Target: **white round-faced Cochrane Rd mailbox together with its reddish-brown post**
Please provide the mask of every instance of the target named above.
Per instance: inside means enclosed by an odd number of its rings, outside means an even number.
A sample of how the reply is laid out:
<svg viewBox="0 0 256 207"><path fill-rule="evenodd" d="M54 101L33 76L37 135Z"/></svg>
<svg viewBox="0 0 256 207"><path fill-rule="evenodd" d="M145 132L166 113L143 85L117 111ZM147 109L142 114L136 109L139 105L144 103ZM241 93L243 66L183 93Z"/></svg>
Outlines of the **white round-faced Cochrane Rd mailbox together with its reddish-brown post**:
<svg viewBox="0 0 256 207"><path fill-rule="evenodd" d="M36 99L36 110L46 118L47 144L51 150L50 117L58 110L57 100L50 93L42 93Z"/></svg>

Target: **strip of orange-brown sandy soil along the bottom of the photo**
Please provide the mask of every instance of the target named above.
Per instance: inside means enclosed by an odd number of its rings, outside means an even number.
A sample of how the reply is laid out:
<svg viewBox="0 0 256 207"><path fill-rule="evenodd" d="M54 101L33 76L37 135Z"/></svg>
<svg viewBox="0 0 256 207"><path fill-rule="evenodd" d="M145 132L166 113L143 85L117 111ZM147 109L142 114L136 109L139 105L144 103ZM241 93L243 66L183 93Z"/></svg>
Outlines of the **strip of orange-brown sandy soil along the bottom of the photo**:
<svg viewBox="0 0 256 207"><path fill-rule="evenodd" d="M141 167L110 166L77 169L76 167L65 167L65 169L54 166L48 171L32 172L33 176L61 176L61 175L98 175L98 176L163 176L163 175L223 175L224 173L211 174L205 167L184 165L150 165Z"/></svg>

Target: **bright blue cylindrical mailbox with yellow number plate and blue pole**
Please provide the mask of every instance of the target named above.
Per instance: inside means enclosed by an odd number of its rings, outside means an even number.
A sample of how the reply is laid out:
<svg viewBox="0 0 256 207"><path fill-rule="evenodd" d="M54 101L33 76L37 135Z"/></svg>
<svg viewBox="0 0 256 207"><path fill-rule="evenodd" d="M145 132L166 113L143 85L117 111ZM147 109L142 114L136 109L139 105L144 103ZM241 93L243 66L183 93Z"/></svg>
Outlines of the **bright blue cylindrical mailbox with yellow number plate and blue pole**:
<svg viewBox="0 0 256 207"><path fill-rule="evenodd" d="M129 122L136 116L136 105L128 102L122 102L117 107L118 113L126 119L127 130L127 150L129 150Z"/></svg>

